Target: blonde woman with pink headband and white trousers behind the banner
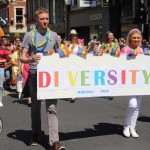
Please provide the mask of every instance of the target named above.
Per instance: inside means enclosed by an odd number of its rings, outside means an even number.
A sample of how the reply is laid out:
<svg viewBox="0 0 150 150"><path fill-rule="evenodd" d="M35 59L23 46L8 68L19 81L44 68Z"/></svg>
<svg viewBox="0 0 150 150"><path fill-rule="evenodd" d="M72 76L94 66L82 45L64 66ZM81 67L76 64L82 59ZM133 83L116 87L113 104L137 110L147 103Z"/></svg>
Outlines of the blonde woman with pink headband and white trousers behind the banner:
<svg viewBox="0 0 150 150"><path fill-rule="evenodd" d="M142 41L142 34L141 31L138 29L132 29L127 35L127 41L122 51L128 53L131 49L137 51L137 53L143 53L141 48L141 41ZM130 96L129 97L129 104L126 112L125 117L125 124L123 135L125 137L134 137L138 138L139 135L137 134L135 127L137 123L137 118L139 114L139 108L141 104L142 96Z"/></svg>

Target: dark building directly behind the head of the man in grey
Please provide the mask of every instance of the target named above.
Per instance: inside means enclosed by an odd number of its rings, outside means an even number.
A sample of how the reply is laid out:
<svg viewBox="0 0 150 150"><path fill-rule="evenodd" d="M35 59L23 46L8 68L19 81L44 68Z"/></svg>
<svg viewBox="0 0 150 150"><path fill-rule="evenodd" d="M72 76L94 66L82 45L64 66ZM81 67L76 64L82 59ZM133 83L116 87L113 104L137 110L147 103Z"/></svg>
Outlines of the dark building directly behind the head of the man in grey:
<svg viewBox="0 0 150 150"><path fill-rule="evenodd" d="M39 7L49 10L50 28L58 34L65 34L64 0L27 0L28 30L35 27L34 13Z"/></svg>

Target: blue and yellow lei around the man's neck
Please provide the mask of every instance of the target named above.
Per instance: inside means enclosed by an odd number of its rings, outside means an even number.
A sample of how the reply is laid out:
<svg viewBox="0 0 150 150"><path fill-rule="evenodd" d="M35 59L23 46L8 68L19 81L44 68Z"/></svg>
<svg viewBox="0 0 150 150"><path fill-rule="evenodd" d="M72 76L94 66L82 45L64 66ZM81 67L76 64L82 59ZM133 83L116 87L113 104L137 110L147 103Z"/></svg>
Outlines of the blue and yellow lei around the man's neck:
<svg viewBox="0 0 150 150"><path fill-rule="evenodd" d="M46 39L40 43L40 44L36 44L36 41L37 41L37 28L34 28L32 30L32 44L36 47L36 50L38 52L43 52L47 43L48 43L48 40L50 39L50 29L47 28L46 30Z"/></svg>

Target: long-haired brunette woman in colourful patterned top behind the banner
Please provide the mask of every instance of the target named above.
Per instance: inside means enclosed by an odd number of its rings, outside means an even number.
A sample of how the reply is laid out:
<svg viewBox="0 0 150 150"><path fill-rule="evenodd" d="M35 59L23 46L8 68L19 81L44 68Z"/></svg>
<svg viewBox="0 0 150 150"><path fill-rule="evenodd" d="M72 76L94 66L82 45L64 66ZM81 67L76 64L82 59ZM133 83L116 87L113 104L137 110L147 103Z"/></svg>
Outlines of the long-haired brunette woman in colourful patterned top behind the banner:
<svg viewBox="0 0 150 150"><path fill-rule="evenodd" d="M102 43L100 51L111 53L112 49L120 51L119 43L115 41L114 34L111 31L108 31L106 33L106 40Z"/></svg>

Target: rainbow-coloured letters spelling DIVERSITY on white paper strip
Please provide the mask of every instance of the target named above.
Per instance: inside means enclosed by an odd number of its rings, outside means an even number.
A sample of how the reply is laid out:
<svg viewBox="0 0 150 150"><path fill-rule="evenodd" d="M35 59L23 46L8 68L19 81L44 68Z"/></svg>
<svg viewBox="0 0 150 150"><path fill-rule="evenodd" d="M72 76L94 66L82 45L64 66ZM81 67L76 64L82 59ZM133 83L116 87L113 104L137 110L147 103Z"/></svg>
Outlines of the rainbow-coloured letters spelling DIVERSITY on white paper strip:
<svg viewBox="0 0 150 150"><path fill-rule="evenodd" d="M62 71L63 70L63 71ZM139 69L76 69L61 68L38 73L39 88L82 88L97 86L128 87L150 85L150 70ZM66 84L64 84L64 81Z"/></svg>

